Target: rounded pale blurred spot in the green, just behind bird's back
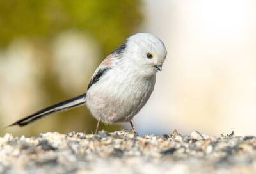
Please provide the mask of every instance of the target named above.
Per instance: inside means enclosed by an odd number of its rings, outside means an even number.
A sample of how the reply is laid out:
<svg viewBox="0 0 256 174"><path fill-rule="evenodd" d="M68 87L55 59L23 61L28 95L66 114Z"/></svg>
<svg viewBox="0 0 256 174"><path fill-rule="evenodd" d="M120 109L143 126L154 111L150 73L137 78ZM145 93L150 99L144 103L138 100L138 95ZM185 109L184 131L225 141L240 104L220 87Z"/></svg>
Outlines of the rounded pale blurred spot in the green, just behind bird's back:
<svg viewBox="0 0 256 174"><path fill-rule="evenodd" d="M58 80L67 93L77 95L90 81L102 56L97 42L88 35L78 31L66 31L61 33L53 46L53 57ZM89 76L86 77L86 75Z"/></svg>

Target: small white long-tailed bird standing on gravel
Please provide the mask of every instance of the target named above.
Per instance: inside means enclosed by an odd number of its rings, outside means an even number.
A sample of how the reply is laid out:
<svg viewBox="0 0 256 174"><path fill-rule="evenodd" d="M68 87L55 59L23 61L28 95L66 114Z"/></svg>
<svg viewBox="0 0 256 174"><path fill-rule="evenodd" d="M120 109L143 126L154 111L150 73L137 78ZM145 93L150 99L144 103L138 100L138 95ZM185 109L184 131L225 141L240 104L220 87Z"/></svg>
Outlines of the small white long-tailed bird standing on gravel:
<svg viewBox="0 0 256 174"><path fill-rule="evenodd" d="M156 72L161 71L166 59L164 43L149 33L130 36L102 61L92 76L87 93L60 102L27 116L13 125L20 127L52 113L86 105L98 123L130 122L146 104L156 83Z"/></svg>

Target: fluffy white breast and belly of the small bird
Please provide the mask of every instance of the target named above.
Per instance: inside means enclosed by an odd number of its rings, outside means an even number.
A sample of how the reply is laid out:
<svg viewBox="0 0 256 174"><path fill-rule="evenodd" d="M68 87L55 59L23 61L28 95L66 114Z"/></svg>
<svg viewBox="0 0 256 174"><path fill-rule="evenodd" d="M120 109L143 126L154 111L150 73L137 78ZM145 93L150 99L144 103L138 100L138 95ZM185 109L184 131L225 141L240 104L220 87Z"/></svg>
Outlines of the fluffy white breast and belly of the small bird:
<svg viewBox="0 0 256 174"><path fill-rule="evenodd" d="M87 92L87 106L105 123L127 122L149 99L156 75L143 78L136 73L109 72Z"/></svg>

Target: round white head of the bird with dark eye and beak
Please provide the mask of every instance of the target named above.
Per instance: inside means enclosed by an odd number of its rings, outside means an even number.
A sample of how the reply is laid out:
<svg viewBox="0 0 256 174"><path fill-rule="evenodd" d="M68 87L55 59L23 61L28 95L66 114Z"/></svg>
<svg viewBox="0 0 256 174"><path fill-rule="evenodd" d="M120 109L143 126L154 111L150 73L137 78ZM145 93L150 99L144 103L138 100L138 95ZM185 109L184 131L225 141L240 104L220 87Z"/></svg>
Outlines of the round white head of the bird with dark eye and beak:
<svg viewBox="0 0 256 174"><path fill-rule="evenodd" d="M130 36L123 47L125 61L129 61L134 67L148 74L156 74L162 70L167 51L164 43L156 36L137 33Z"/></svg>

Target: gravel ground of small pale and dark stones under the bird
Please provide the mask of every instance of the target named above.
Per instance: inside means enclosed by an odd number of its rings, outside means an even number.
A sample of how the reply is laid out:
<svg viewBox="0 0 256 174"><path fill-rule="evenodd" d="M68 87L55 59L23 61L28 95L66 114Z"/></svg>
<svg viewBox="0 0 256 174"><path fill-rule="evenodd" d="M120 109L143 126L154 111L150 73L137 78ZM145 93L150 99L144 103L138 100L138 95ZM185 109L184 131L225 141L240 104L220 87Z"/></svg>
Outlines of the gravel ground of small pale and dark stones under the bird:
<svg viewBox="0 0 256 174"><path fill-rule="evenodd" d="M131 131L0 138L0 173L256 173L256 137Z"/></svg>

